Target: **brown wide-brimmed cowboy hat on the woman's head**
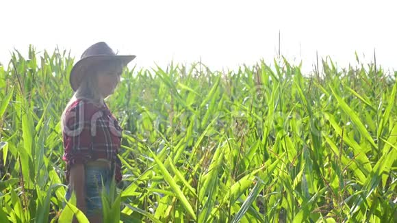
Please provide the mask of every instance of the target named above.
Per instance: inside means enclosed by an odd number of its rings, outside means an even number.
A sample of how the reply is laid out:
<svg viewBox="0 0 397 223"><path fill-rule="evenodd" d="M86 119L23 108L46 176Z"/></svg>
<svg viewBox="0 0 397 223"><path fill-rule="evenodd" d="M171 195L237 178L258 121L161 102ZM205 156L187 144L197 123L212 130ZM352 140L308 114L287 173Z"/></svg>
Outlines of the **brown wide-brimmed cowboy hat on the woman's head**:
<svg viewBox="0 0 397 223"><path fill-rule="evenodd" d="M81 55L80 60L73 66L69 81L76 91L79 88L84 75L90 75L86 72L90 66L94 66L100 62L107 62L109 60L119 60L123 66L127 66L131 60L133 60L136 55L116 55L114 51L105 43L97 42L91 47L88 47L86 51Z"/></svg>

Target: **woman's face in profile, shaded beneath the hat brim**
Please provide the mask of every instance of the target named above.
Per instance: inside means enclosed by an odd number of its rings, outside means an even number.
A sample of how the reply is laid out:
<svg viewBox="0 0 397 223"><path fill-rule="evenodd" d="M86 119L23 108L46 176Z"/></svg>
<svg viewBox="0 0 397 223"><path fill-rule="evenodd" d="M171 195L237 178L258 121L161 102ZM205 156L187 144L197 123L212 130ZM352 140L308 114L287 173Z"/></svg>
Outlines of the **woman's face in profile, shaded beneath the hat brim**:
<svg viewBox="0 0 397 223"><path fill-rule="evenodd" d="M113 94L118 82L120 82L120 76L123 71L123 67L108 67L99 70L98 73L98 88L105 99L110 94Z"/></svg>

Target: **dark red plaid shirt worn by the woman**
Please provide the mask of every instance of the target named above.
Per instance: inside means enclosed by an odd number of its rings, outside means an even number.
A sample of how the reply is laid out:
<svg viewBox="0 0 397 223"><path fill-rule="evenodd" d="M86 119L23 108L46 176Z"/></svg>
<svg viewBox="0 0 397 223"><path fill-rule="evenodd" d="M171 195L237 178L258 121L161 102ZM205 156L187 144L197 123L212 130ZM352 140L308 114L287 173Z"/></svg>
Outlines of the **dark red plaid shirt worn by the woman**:
<svg viewBox="0 0 397 223"><path fill-rule="evenodd" d="M107 159L114 163L115 179L120 182L121 162L117 153L123 129L107 106L97 107L89 101L78 99L68 107L62 121L62 159L66 161L66 181L69 180L71 165Z"/></svg>

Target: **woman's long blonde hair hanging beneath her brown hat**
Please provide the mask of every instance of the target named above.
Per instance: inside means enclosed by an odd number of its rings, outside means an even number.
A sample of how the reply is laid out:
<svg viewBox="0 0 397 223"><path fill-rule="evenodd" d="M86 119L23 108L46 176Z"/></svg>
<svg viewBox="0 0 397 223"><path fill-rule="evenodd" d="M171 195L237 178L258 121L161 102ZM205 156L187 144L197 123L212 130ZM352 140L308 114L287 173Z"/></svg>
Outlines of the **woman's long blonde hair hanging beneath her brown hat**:
<svg viewBox="0 0 397 223"><path fill-rule="evenodd" d="M62 112L61 116L61 129L64 129L64 118L68 108L73 104L76 100L84 99L89 103L93 103L94 105L101 106L103 105L103 96L99 92L98 86L98 76L99 71L104 69L113 69L116 67L123 66L119 60L109 60L105 62L100 62L97 64L92 64L90 68L86 69L86 75L84 75L79 88L77 88L76 92L73 94L71 100L68 101L64 112Z"/></svg>

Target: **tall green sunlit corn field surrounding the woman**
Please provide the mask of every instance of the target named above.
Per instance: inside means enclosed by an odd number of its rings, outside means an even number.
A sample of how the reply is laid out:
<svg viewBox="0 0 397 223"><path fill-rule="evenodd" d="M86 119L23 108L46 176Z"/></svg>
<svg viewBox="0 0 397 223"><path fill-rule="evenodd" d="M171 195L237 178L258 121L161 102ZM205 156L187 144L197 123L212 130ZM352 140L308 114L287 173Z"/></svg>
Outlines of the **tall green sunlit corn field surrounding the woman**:
<svg viewBox="0 0 397 223"><path fill-rule="evenodd" d="M88 222L64 199L73 58L2 63L0 222ZM126 69L107 99L125 131L105 222L397 222L397 73L356 64Z"/></svg>

